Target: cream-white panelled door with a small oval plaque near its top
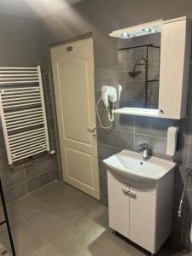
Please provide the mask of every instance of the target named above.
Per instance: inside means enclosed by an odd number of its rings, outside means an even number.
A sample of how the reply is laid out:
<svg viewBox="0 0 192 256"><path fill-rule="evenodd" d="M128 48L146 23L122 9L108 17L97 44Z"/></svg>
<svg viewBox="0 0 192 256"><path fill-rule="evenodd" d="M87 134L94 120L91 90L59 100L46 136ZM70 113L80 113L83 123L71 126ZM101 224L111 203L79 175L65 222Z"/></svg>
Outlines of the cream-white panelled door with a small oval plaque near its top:
<svg viewBox="0 0 192 256"><path fill-rule="evenodd" d="M64 181L99 199L92 38L50 54Z"/></svg>

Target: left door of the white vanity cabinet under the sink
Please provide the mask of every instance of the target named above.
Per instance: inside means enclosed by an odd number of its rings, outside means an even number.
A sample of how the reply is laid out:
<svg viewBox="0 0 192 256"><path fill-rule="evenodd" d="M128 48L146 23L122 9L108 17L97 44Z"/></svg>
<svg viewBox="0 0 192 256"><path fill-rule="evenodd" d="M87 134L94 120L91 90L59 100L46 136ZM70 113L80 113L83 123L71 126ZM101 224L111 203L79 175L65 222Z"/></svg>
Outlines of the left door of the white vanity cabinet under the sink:
<svg viewBox="0 0 192 256"><path fill-rule="evenodd" d="M108 172L109 226L129 238L129 185Z"/></svg>

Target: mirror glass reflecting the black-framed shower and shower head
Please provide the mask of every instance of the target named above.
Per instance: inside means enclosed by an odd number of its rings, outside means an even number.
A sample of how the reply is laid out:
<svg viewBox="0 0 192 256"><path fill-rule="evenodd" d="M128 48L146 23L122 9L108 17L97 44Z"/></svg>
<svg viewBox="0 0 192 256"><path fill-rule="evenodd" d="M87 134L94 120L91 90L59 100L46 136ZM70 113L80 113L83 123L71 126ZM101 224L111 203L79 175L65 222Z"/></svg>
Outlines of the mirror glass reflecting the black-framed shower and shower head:
<svg viewBox="0 0 192 256"><path fill-rule="evenodd" d="M119 39L120 108L158 108L160 33Z"/></svg>

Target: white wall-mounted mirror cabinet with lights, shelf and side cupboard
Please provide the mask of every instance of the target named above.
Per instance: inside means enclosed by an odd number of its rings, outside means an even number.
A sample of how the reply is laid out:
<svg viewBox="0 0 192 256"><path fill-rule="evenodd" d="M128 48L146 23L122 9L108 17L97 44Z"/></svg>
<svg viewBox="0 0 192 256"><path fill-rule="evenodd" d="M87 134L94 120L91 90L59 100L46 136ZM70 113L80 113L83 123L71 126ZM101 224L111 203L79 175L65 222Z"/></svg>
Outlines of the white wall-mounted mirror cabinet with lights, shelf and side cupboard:
<svg viewBox="0 0 192 256"><path fill-rule="evenodd" d="M113 112L169 119L186 116L191 20L156 20L110 36L118 38L123 86Z"/></svg>

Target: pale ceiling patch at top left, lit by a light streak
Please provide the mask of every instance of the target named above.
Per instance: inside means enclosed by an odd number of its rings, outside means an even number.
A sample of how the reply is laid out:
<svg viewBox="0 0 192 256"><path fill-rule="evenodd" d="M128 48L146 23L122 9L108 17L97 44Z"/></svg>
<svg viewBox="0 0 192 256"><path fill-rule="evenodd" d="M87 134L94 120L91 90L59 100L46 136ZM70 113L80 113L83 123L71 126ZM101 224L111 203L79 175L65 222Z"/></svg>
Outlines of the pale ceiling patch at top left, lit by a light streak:
<svg viewBox="0 0 192 256"><path fill-rule="evenodd" d="M0 0L0 13L44 18L82 0Z"/></svg>

